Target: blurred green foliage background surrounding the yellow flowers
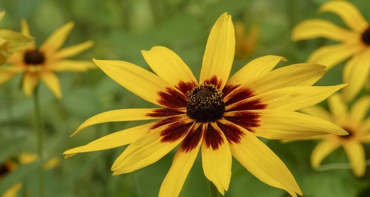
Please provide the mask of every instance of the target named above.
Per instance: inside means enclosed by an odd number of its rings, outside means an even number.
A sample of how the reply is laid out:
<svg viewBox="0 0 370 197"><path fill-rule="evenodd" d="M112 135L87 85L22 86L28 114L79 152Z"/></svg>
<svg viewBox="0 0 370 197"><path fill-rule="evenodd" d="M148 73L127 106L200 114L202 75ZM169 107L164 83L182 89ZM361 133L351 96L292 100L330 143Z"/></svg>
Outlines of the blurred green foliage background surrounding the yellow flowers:
<svg viewBox="0 0 370 197"><path fill-rule="evenodd" d="M333 14L319 14L325 0L1 0L6 15L0 28L20 31L26 18L37 45L68 21L76 23L64 46L91 39L92 49L75 57L124 60L150 69L140 50L163 45L174 50L199 76L207 36L216 19L225 11L232 15L239 33L237 57L232 73L249 61L264 55L284 56L288 62L279 66L303 63L326 39L294 43L292 28L309 18L329 19L344 27ZM370 1L351 0L370 19ZM239 30L244 30L239 31ZM242 35L242 36L240 36ZM343 64L333 67L318 85L341 83ZM46 158L59 158L59 164L45 171L47 197L156 197L170 168L174 152L159 162L133 173L112 176L111 164L125 147L78 154L64 160L62 153L84 145L113 131L143 122L107 123L90 127L76 136L69 135L87 118L113 109L153 107L128 92L100 69L82 73L58 73L63 98L58 100L41 84L41 114L45 127ZM0 86L0 163L23 153L36 153L33 100L20 89L21 76ZM360 95L369 94L369 85ZM327 106L326 101L321 103ZM305 197L369 197L370 170L355 178L348 165L342 169L312 170L309 159L315 141L282 144L264 142L284 161L294 174ZM198 155L199 157L200 155ZM370 150L367 147L367 158ZM343 149L334 151L323 164L348 163ZM0 180L0 191L22 182L19 197L37 195L37 167L19 165ZM0 178L1 179L1 178ZM202 172L200 157L195 161L181 197L210 196L209 182ZM280 189L260 182L238 162L233 161L232 177L226 197L288 197Z"/></svg>

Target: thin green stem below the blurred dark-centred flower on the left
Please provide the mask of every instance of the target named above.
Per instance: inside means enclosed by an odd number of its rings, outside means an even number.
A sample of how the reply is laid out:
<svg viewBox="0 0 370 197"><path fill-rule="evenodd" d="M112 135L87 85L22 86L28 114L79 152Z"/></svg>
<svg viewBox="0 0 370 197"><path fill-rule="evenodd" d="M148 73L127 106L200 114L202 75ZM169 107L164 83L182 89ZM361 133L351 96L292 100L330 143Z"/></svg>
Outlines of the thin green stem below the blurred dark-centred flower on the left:
<svg viewBox="0 0 370 197"><path fill-rule="evenodd" d="M36 122L36 131L37 131L37 154L40 162L43 161L43 127L40 117L40 106L38 100L38 86L35 88L34 92L34 106L35 106L35 122ZM38 186L39 186L39 197L44 197L44 174L43 174L42 165L38 169Z"/></svg>

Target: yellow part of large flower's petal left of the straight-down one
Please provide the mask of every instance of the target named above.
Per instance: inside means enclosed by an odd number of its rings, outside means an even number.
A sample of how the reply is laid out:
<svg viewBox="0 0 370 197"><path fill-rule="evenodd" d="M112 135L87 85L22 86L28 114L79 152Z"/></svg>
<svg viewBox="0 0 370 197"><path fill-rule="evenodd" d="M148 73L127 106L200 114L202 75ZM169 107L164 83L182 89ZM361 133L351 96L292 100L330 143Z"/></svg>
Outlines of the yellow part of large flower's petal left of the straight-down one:
<svg viewBox="0 0 370 197"><path fill-rule="evenodd" d="M199 128L202 128L202 124L199 125ZM199 132L201 132L200 138L197 138L197 141L194 141L195 146L193 149L187 152L179 148L179 150L176 152L171 168L162 182L158 197L179 196L187 174L189 173L191 166L194 164L196 156L199 152L200 144L203 139L203 131L201 130ZM184 142L181 146L183 146L183 144Z"/></svg>

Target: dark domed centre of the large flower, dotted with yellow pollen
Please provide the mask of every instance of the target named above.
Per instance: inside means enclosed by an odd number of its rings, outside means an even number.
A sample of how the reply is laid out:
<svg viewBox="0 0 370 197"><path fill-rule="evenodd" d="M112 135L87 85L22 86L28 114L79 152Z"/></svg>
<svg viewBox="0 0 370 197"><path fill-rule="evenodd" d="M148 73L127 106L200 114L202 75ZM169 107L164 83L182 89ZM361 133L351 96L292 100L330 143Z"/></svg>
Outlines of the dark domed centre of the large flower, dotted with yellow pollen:
<svg viewBox="0 0 370 197"><path fill-rule="evenodd" d="M187 93L186 114L197 122L214 122L225 112L222 92L213 84L203 84Z"/></svg>

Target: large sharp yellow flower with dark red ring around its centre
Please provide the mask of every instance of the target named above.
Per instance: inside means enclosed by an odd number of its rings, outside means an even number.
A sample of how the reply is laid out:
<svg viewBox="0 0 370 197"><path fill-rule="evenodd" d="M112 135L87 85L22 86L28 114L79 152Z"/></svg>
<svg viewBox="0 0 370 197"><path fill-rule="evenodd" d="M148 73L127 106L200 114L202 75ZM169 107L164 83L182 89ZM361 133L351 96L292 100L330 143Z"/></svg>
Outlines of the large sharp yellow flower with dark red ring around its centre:
<svg viewBox="0 0 370 197"><path fill-rule="evenodd" d="M162 46L142 51L155 74L128 62L94 60L121 86L163 108L107 111L86 120L74 134L105 122L164 119L70 149L64 152L66 158L130 144L111 167L117 175L153 164L180 144L160 197L179 195L199 149L205 176L222 194L229 187L233 156L264 183L294 197L302 195L287 166L258 137L347 134L329 121L295 112L344 85L312 87L324 75L325 66L297 64L272 70L285 60L272 55L253 60L229 78L234 51L234 27L231 16L224 13L208 37L200 85L183 60Z"/></svg>

